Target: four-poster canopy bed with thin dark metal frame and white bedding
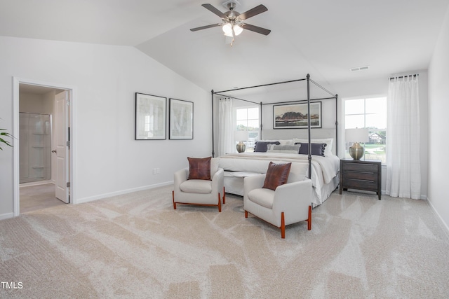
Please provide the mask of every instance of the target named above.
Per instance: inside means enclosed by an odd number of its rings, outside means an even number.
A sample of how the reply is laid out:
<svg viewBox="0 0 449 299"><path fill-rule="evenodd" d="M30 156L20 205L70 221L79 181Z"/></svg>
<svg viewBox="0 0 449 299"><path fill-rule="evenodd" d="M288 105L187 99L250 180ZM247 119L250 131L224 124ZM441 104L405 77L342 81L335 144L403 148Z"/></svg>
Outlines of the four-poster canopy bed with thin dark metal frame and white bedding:
<svg viewBox="0 0 449 299"><path fill-rule="evenodd" d="M257 103L247 99L241 99L234 97L232 92L236 90L248 90L253 88L264 88L272 85L283 84L303 84L306 83L306 98L284 101L284 102L269 102L269 103ZM314 88L318 88L320 92L325 92L326 97L311 97L310 85ZM264 174L267 172L269 162L282 163L292 162L290 170L289 181L301 181L304 178L309 178L312 181L312 207L316 207L322 204L337 188L339 183L339 170L340 159L337 157L337 101L338 96L333 95L331 92L323 88L318 83L310 79L309 74L306 78L284 81L279 83L270 83L266 85L256 85L246 88L236 88L233 90L223 90L220 92L214 92L212 90L212 110L214 115L214 101L216 96L229 97L232 99L250 102L260 106L260 135L255 143L254 153L226 153L220 155L219 167L225 170L225 189L227 193L236 195L243 195L243 179L246 176L252 176L255 174ZM322 120L326 118L329 120L333 116L321 116L321 102L335 100L335 128L322 128ZM311 114L311 104L319 103L320 108L320 124L312 125L312 120L308 116L314 116ZM274 116L273 113L273 130L264 130L262 125L262 109L267 106L281 106L290 104L304 104L307 105L307 121L302 128L289 128L277 127L278 122L290 120L281 120ZM328 111L329 111L328 105ZM305 108L305 107L304 107ZM295 120L297 121L297 120ZM214 120L212 120L214 126ZM212 156L215 157L215 140L214 140L214 128L212 136ZM307 130L304 130L307 129ZM300 195L298 195L300 196Z"/></svg>

